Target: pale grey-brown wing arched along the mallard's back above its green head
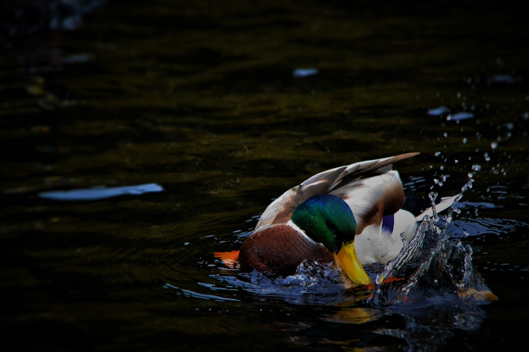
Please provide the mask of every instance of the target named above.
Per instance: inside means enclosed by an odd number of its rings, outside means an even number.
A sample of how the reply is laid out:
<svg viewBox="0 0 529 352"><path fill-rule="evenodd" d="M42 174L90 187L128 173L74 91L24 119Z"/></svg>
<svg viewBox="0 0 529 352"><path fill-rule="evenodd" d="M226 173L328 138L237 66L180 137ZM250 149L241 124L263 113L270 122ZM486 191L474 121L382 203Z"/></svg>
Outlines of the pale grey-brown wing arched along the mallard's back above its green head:
<svg viewBox="0 0 529 352"><path fill-rule="evenodd" d="M356 180L362 178L368 179L370 176L385 174L391 169L391 164L411 158L417 154L419 153L407 153L388 158L360 161L359 163L336 167L316 174L300 185L290 188L279 198L275 199L261 215L256 226L256 231L267 225L287 223L294 209L300 203L316 194L349 194L348 192L352 189L362 187L362 184L355 183ZM402 191L400 179L398 179L398 184ZM349 191L344 192L344 187L349 187Z"/></svg>

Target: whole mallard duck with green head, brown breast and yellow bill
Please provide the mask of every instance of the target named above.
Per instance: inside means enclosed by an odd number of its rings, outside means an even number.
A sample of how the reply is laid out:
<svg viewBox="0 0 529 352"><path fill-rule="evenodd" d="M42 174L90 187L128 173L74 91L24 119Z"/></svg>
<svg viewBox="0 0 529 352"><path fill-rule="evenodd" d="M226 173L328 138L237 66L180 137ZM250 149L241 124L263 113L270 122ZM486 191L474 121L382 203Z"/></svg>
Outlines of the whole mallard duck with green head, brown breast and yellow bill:
<svg viewBox="0 0 529 352"><path fill-rule="evenodd" d="M417 222L432 215L432 208L419 215L406 210L402 182L392 169L418 154L337 167L289 189L266 208L232 262L238 255L242 271L289 275L305 259L334 261L354 284L369 284L363 267L396 258ZM443 198L437 210L456 197Z"/></svg>

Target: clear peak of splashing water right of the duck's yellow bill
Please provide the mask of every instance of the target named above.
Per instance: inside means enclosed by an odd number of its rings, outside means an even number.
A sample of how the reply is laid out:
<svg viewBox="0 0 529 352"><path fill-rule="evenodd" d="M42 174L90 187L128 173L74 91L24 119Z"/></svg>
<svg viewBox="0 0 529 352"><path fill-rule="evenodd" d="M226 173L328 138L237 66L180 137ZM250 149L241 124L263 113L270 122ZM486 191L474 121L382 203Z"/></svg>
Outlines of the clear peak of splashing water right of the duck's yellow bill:
<svg viewBox="0 0 529 352"><path fill-rule="evenodd" d="M377 276L368 302L392 306L443 297L481 304L497 299L473 267L470 245L450 240L441 229L450 218L443 217L441 226L432 217L423 219L413 239Z"/></svg>

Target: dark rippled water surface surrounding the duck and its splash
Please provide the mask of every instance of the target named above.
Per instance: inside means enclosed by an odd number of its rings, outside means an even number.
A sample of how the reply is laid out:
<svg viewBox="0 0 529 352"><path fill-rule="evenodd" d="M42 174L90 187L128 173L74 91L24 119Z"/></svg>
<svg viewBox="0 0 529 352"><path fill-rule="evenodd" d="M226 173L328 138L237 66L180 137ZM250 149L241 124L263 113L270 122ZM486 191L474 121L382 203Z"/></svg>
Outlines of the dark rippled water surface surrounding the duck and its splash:
<svg viewBox="0 0 529 352"><path fill-rule="evenodd" d="M444 351L525 341L522 8L93 3L68 25L4 20L7 342ZM377 307L348 290L257 284L214 257L238 250L271 200L309 176L409 151L422 154L398 166L407 191L463 189L445 231L471 248L497 301L440 293Z"/></svg>

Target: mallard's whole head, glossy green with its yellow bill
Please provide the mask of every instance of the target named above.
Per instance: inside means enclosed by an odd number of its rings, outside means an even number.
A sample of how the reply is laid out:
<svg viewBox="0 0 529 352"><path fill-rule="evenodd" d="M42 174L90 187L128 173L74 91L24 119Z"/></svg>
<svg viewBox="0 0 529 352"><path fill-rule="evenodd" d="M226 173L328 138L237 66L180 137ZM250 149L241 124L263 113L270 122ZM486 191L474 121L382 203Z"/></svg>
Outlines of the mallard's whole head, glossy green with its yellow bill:
<svg viewBox="0 0 529 352"><path fill-rule="evenodd" d="M333 253L334 261L352 282L361 285L371 282L354 250L357 222L343 199L330 194L308 198L296 207L291 220L312 240L323 243Z"/></svg>

